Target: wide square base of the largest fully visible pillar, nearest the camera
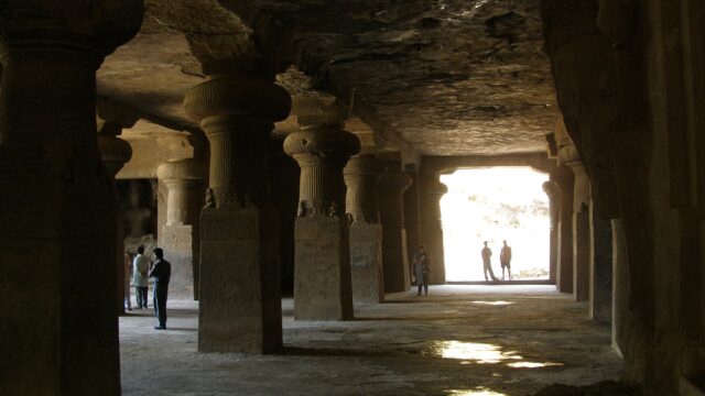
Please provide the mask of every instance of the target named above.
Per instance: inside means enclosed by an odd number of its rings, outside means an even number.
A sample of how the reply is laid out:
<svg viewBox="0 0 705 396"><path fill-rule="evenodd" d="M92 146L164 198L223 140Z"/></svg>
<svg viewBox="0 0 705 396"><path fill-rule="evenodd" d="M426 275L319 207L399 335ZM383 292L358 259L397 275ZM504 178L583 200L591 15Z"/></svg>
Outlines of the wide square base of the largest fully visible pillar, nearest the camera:
<svg viewBox="0 0 705 396"><path fill-rule="evenodd" d="M269 208L200 213L199 352L282 346L279 219Z"/></svg>

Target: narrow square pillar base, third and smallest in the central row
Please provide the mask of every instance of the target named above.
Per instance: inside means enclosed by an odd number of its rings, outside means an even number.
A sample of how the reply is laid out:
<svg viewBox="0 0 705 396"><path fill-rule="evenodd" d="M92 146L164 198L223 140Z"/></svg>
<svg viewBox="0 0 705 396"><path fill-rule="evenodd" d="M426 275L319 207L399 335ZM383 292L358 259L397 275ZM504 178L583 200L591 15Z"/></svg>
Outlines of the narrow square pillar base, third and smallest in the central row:
<svg viewBox="0 0 705 396"><path fill-rule="evenodd" d="M350 273L355 304L375 304L384 300L382 227L380 224L354 223L350 226Z"/></svg>

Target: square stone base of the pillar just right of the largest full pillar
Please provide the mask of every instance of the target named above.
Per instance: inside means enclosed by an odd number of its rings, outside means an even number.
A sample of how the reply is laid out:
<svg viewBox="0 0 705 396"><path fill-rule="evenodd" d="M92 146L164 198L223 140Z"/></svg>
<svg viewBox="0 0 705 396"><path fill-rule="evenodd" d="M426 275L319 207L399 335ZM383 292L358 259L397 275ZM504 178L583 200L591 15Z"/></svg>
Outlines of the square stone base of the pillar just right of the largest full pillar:
<svg viewBox="0 0 705 396"><path fill-rule="evenodd" d="M294 319L351 319L347 220L296 218L295 243Z"/></svg>

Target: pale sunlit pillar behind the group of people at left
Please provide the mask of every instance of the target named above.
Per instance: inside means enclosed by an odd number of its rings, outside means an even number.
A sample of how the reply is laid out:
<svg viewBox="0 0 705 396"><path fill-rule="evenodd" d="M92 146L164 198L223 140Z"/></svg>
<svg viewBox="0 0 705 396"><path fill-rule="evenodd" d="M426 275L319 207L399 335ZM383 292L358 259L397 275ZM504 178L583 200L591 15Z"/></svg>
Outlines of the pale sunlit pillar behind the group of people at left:
<svg viewBox="0 0 705 396"><path fill-rule="evenodd" d="M160 232L161 248L172 263L170 296L198 299L199 224L205 195L205 167L195 160L170 161L156 177L166 186L166 223Z"/></svg>

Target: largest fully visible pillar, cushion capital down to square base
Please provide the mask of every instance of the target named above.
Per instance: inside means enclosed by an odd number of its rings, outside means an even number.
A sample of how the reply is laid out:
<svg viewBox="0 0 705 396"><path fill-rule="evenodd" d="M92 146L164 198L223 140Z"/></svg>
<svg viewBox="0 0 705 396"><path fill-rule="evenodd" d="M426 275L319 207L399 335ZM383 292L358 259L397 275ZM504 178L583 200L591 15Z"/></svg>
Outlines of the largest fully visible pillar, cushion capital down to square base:
<svg viewBox="0 0 705 396"><path fill-rule="evenodd" d="M264 353L282 344L279 219L267 141L291 98L268 75L214 75L184 99L210 143L200 212L198 350Z"/></svg>

